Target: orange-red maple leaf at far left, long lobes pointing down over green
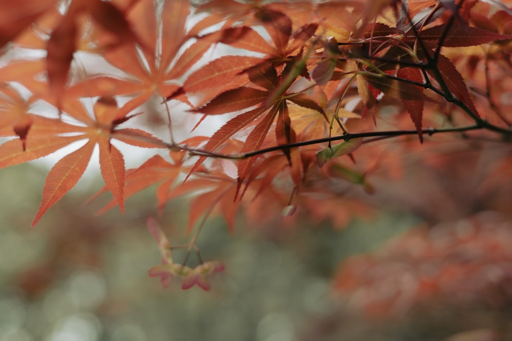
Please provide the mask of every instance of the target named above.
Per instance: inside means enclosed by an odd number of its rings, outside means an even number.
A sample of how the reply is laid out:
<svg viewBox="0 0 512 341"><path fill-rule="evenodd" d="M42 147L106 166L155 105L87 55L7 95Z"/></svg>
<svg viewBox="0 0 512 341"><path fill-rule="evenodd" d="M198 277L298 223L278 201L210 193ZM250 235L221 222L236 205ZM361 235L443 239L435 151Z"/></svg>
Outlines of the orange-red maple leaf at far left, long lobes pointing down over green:
<svg viewBox="0 0 512 341"><path fill-rule="evenodd" d="M133 116L127 116L131 108L118 108L114 98L99 98L96 101L94 119L77 100L67 99L62 106L67 115L83 125L71 125L33 115L34 123L25 137L26 142L11 140L0 145L0 150L3 151L0 166L6 167L48 155L72 142L87 140L82 147L58 161L48 173L41 204L32 225L76 185L86 170L96 145L99 146L101 175L121 211L124 203L124 159L121 152L111 144L111 139L139 147L162 147L161 141L150 134L137 129L117 128L118 124ZM47 129L55 121L60 123ZM73 134L67 135L69 133Z"/></svg>

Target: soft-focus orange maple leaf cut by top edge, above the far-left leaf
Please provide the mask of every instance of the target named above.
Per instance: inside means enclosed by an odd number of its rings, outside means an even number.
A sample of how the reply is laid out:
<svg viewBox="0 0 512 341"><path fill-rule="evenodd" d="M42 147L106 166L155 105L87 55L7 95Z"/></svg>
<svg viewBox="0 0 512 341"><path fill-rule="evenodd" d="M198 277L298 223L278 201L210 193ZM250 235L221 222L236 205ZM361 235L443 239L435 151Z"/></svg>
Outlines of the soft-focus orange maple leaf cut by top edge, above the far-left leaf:
<svg viewBox="0 0 512 341"><path fill-rule="evenodd" d="M163 99L173 98L188 103L180 91L180 79L215 42L215 36L198 39L179 53L189 39L186 35L189 2L165 1L161 8L161 18L157 18L155 6L151 1L139 1L126 13L127 20L140 36L145 49L139 49L136 44L123 44L103 51L102 54L110 64L127 75L118 82L125 83L120 86L125 88L126 95L133 96L130 105L134 108L155 94ZM98 39L102 37L99 33ZM171 64L173 67L170 67ZM90 87L89 81L96 78L105 79L105 76L92 76L81 82L80 88L87 89Z"/></svg>

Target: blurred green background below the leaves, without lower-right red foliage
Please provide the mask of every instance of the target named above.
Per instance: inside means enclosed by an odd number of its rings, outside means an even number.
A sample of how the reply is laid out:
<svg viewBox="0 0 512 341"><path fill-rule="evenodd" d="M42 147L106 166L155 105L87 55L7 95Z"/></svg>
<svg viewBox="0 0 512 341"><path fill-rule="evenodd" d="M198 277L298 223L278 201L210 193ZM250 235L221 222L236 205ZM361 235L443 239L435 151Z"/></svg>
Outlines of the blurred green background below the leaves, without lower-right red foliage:
<svg viewBox="0 0 512 341"><path fill-rule="evenodd" d="M151 189L127 202L125 216L116 210L95 216L97 207L83 202L101 180L86 177L31 229L45 167L25 164L0 175L0 339L6 341L308 339L341 308L332 295L338 262L415 222L388 214L378 218L379 227L361 220L337 231L328 224L290 230L241 220L230 235L213 218L199 245L204 258L226 263L225 272L211 280L209 292L184 291L178 282L164 289L147 276L160 261L145 226L155 214ZM158 218L170 238L183 238L184 212L186 205L176 202Z"/></svg>

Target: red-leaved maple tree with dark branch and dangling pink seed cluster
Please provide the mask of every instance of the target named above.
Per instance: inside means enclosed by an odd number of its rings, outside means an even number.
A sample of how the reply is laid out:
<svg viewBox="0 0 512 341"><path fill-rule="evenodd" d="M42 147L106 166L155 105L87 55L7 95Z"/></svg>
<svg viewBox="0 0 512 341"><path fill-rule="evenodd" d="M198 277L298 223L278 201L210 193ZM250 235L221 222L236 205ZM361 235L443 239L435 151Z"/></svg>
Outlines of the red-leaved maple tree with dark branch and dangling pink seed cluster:
<svg viewBox="0 0 512 341"><path fill-rule="evenodd" d="M240 211L260 223L308 216L344 225L403 186L402 204L426 220L507 212L512 11L500 1L3 0L2 8L0 132L9 139L0 167L82 144L50 170L33 225L97 148L100 193L113 195L103 211L124 211L126 198L152 185L160 212L193 195L185 245L148 219L163 260L150 275L164 285L180 277L183 288L208 289L206 276L223 270L196 245L214 213L229 231ZM195 130L218 117L224 123L208 137L179 138L185 128L173 124L195 120ZM119 143L158 152L126 170ZM418 153L413 173L428 176L423 183L399 172ZM464 186L475 162L485 165L478 195L454 203L465 210L425 205L440 196L429 192L436 176L421 172L442 169ZM184 260L174 261L176 248Z"/></svg>

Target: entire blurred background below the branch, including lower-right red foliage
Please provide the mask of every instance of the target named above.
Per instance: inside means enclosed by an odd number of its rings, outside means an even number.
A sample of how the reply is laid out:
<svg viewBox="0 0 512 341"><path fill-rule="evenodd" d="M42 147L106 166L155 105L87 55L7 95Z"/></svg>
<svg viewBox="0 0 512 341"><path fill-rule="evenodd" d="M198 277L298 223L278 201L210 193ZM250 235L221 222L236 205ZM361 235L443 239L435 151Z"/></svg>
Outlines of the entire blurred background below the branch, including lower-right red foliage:
<svg viewBox="0 0 512 341"><path fill-rule="evenodd" d="M160 262L145 226L156 214L153 189L128 200L124 216L116 209L96 216L102 203L83 203L102 182L88 175L31 229L47 171L41 163L0 170L3 341L512 338L507 251L512 237L505 222L495 223L485 238L475 234L478 223L438 226L436 231L459 231L455 236L466 238L454 242L446 233L434 239L432 233L417 233L432 230L418 228L418 216L390 209L354 219L343 229L307 220L293 227L279 220L247 225L241 217L234 234L213 217L198 245L203 258L222 260L226 270L211 279L208 292L182 290L178 281L163 288L147 276ZM185 241L186 210L186 201L179 200L157 217L173 243ZM481 218L486 219L496 216ZM476 240L487 242L499 257L488 259L492 253ZM502 241L501 253L496 240ZM453 261L446 265L448 258ZM485 271L475 265L482 259ZM456 294L436 283L423 290L421 278L430 274L423 268L455 293L475 278L483 279L484 288L452 300ZM397 309L397 302L405 305Z"/></svg>

